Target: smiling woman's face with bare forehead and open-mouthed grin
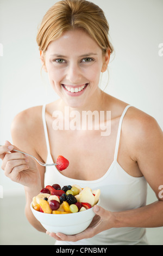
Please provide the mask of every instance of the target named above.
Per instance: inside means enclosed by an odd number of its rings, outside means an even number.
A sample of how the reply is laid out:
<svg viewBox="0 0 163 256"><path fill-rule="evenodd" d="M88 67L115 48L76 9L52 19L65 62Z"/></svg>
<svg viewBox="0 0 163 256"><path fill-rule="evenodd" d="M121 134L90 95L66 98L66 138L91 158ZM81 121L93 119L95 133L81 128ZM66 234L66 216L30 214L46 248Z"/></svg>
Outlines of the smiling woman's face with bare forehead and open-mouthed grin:
<svg viewBox="0 0 163 256"><path fill-rule="evenodd" d="M100 74L108 62L109 54L104 56L95 40L82 30L74 30L48 45L44 68L64 103L80 108L95 100Z"/></svg>

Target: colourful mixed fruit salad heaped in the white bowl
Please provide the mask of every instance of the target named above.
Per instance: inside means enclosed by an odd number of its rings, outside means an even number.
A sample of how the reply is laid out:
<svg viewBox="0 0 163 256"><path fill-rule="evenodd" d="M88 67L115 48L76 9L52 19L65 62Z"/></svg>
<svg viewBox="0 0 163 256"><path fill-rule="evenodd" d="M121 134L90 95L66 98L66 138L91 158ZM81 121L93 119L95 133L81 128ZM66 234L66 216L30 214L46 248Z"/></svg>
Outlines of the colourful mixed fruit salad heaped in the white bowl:
<svg viewBox="0 0 163 256"><path fill-rule="evenodd" d="M60 187L46 186L33 198L36 211L49 214L68 214L85 211L98 203L100 189L81 188L77 184Z"/></svg>

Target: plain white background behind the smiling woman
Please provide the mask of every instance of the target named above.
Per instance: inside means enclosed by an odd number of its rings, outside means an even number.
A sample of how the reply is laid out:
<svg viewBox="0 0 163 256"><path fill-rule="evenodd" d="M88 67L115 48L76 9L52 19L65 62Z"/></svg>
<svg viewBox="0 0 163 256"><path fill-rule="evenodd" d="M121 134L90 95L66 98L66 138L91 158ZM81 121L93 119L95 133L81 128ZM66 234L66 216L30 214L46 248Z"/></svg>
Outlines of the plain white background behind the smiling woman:
<svg viewBox="0 0 163 256"><path fill-rule="evenodd" d="M43 15L55 0L0 0L0 144L12 141L14 116L58 96L42 71L36 33ZM162 0L92 0L109 21L115 57L109 64L106 92L153 116L163 128ZM108 74L102 77L106 86ZM134 134L133 134L134 136ZM0 169L3 197L23 194L21 185L10 181ZM2 190L2 189L1 189ZM1 199L0 199L1 200Z"/></svg>

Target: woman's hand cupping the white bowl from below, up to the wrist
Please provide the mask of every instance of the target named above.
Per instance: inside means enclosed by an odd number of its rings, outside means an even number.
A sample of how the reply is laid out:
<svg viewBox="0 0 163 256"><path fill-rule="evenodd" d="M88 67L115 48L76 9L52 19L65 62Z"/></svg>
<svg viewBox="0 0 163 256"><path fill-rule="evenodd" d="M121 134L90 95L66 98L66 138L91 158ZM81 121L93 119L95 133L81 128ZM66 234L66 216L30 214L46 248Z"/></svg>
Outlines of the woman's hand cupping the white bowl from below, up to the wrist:
<svg viewBox="0 0 163 256"><path fill-rule="evenodd" d="M91 238L98 233L110 229L114 227L115 224L115 217L114 213L110 211L104 210L101 206L95 205L93 206L93 211L96 213L95 217L93 218L91 224L87 229L77 235L65 235L62 233L49 233L46 231L46 234L53 237L58 241L72 241L76 242L82 239Z"/></svg>

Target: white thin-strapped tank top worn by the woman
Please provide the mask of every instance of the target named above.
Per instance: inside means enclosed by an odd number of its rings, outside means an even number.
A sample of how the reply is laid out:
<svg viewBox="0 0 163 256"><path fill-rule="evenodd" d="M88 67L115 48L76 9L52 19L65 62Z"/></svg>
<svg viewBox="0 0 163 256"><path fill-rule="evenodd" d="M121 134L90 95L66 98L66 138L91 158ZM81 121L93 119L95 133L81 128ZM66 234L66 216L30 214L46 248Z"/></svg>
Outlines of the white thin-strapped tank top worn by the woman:
<svg viewBox="0 0 163 256"><path fill-rule="evenodd" d="M118 146L120 142L123 117L130 105L128 105L120 118L114 160L104 176L98 180L76 180L62 175L55 166L49 166L45 172L45 186L60 184L60 186L78 184L80 187L101 189L100 205L109 211L126 211L146 205L147 181L145 177L130 176L117 162ZM45 120L46 105L42 107L42 120L47 144L47 163L53 163L51 156L47 126ZM146 230L144 228L112 228L105 230L90 239L78 242L60 242L55 245L148 245Z"/></svg>

